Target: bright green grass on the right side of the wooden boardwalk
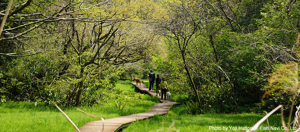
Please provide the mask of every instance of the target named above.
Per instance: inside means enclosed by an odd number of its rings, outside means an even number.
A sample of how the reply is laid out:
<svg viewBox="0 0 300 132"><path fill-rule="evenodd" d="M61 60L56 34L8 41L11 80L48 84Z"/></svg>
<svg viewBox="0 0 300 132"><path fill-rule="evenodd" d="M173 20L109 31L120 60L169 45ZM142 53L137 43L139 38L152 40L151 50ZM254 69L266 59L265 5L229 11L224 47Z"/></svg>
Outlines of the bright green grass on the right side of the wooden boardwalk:
<svg viewBox="0 0 300 132"><path fill-rule="evenodd" d="M167 115L154 116L153 118L132 123L123 132L223 132L225 130L209 130L209 126L228 127L248 126L251 127L259 121L263 113L241 113L241 114L201 114L190 115L182 111L183 105L173 106ZM280 115L274 114L269 118L270 126L281 127ZM174 125L172 123L174 122ZM171 126L171 127L170 127ZM261 126L268 126L266 122ZM242 130L227 130L227 132L240 132ZM258 130L267 132L268 130ZM282 132L283 130L271 130L271 132Z"/></svg>

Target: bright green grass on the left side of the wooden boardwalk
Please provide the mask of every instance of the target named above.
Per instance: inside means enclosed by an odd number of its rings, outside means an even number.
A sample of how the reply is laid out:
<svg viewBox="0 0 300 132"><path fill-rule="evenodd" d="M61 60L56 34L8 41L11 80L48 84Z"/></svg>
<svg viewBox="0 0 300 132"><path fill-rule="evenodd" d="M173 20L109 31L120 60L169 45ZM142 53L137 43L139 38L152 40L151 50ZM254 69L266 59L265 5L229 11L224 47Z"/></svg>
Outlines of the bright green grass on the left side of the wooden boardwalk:
<svg viewBox="0 0 300 132"><path fill-rule="evenodd" d="M123 95L135 96L139 94L141 99L128 100L128 104L119 111L114 103L114 91L105 91L109 94L108 103L81 106L82 111L102 117L104 119L131 115L148 111L158 100L148 95L137 93L131 84L116 84L116 89L122 89ZM117 98L116 98L117 99ZM154 101L151 101L154 100ZM61 107L61 109L69 116L77 127L81 127L90 121L99 119L88 117L77 111L76 107ZM38 103L34 106L34 102L8 102L2 103L0 108L0 132L72 132L75 128L62 115L62 113L53 105L47 106Z"/></svg>

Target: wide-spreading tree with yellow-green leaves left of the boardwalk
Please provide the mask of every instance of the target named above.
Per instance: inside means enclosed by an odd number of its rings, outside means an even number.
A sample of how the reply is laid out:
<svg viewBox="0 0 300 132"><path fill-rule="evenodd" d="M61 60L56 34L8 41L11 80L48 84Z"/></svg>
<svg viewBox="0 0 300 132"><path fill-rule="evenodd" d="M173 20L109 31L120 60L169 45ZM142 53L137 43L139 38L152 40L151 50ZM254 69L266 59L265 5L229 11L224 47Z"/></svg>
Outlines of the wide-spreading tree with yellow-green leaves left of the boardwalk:
<svg viewBox="0 0 300 132"><path fill-rule="evenodd" d="M142 31L142 28L144 28L144 24L148 23L145 20L149 19L148 15L154 9L151 4L142 7L135 1L126 4L126 6L118 7L117 10L107 8L107 11L111 11L108 14L108 17L112 19L110 21L100 21L93 24L79 21L76 25L75 21L70 23L69 28L72 29L72 32L65 35L71 40L69 44L73 51L76 51L77 62L81 67L79 74L81 81L77 90L76 106L80 102L83 73L86 66L133 63L148 56L147 47L152 44L153 35L147 35ZM136 10L134 12L129 11L129 9L134 9L134 6L136 6ZM142 19L141 16L143 16Z"/></svg>

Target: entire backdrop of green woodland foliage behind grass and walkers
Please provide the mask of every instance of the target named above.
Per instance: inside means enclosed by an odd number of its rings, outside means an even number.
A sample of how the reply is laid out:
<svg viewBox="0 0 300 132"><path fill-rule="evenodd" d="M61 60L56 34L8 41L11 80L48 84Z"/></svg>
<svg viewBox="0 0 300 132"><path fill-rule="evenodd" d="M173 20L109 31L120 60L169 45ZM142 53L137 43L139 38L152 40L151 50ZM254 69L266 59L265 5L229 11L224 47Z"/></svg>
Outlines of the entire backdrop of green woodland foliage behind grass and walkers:
<svg viewBox="0 0 300 132"><path fill-rule="evenodd" d="M2 1L4 4L0 5L0 10L6 9L7 2L8 0ZM14 1L14 4L20 2L23 1ZM73 2L79 1L71 3ZM201 98L201 108L199 111L191 110L193 111L191 113L236 112L241 110L239 107L256 107L254 103L261 101L268 74L276 70L278 64L289 61L298 63L299 61L296 57L297 45L294 42L295 36L300 31L300 2L290 3L284 0L199 2L163 0L159 3L141 0L112 0L109 4L103 5L105 11L102 7L78 10L74 13L83 15L73 17L98 16L95 19L108 21L108 19L117 20L128 17L133 13L138 14L133 15L135 17L126 18L128 21L120 22L75 21L77 33L72 32L72 21L47 22L26 34L26 36L35 36L34 39L20 36L19 40L2 41L0 42L1 53L17 53L24 49L31 51L40 49L43 52L23 58L0 56L0 96L2 98L5 96L6 101L43 100L46 104L57 103L71 106L76 103L75 98L79 94L77 92L81 89L80 105L94 106L108 103L110 92L116 95L129 94L127 97L133 100L155 101L155 97L131 94L134 91L120 89L118 88L120 85L116 83L120 78L137 77L148 80L149 70L154 70L154 73L166 78L173 100L187 102L186 105L195 108L191 81L183 68L184 63L179 50L181 47L172 39L168 40L162 36L153 37L152 34L148 34L157 30L159 31L155 34L166 33L166 30L160 31L161 25L179 14L180 18L186 18L182 22L189 21L186 24L178 23L171 27L178 26L176 29L180 33L189 32L191 28L197 26L192 25L194 21L201 21L201 27L199 27L201 30L197 30L189 43L186 43L184 53L188 69ZM8 20L41 19L43 16L50 16L52 12L58 11L59 5L63 4L66 3L56 0L32 2L18 14L37 12L42 13L42 16L14 15ZM89 6L90 3L85 2L75 4L72 8ZM224 12L221 11L220 6L223 7ZM195 8L191 8L190 12L176 12L177 10L172 10L176 9L175 7ZM199 13L202 7L205 9L205 17L199 17L202 15ZM71 9L68 8L68 10ZM189 16L193 17L193 21L189 19ZM70 18L69 14L62 17ZM226 20L227 17L232 20ZM134 21L140 21L140 23L134 23ZM25 23L26 21L7 21L5 29ZM97 29L98 25L104 26L103 29L101 28L103 32L101 35L99 34L100 28ZM116 34L112 35L116 39L110 39L109 43L100 47L98 52L97 45L101 45L103 40L98 42L95 36L98 34L99 37L103 37L104 34L110 32L111 26L114 26L112 30L118 29L118 33L126 33L118 37L115 36ZM23 32L31 27L33 25L13 30L12 33ZM176 37L174 32L168 35ZM188 34L182 33L182 38L186 38L185 35ZM208 37L210 35L214 37L213 42L219 54L218 62ZM10 36L8 32L2 34L2 37ZM117 41L118 39L120 41ZM162 42L155 40L162 40ZM184 40L178 41L182 43ZM128 45L128 43L136 44L130 46L131 44ZM120 47L123 49L117 50ZM95 53L101 54L94 55ZM110 55L110 53L115 54ZM23 54L25 55L25 53L19 55ZM120 64L119 62L122 62L124 58L141 60ZM98 59L95 65L88 63ZM84 68L83 73L80 72L81 68ZM219 75L222 84L219 82ZM273 84L292 85L286 81L274 81ZM277 94L282 92L284 92L283 89L270 92L272 98L265 100L268 105L266 108L272 108L277 104L287 104L292 100L288 93Z"/></svg>

